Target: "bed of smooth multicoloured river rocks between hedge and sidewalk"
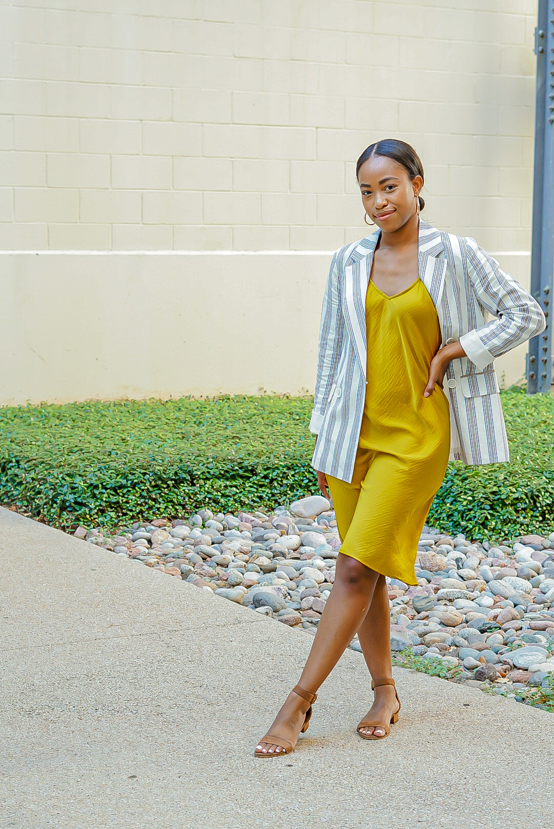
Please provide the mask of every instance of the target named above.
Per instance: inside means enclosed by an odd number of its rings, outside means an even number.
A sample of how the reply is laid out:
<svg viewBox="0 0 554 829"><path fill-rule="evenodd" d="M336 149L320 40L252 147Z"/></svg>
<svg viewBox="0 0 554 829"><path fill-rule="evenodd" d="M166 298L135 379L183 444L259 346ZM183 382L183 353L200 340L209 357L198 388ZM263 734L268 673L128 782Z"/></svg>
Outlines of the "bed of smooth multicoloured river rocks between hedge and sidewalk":
<svg viewBox="0 0 554 829"><path fill-rule="evenodd" d="M184 579L255 613L315 633L333 589L341 542L328 500L274 511L137 521L117 536L80 526L75 536ZM387 577L391 650L455 668L450 678L518 699L554 672L554 532L488 541L425 526L417 586ZM350 647L360 651L355 637ZM440 664L440 663L439 663Z"/></svg>

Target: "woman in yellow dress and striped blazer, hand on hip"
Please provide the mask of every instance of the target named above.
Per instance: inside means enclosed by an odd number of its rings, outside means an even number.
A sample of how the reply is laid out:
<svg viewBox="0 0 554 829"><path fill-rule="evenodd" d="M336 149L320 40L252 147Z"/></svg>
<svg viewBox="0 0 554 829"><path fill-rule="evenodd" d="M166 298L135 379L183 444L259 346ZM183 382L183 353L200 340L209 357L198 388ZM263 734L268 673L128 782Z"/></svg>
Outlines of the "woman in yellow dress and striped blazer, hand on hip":
<svg viewBox="0 0 554 829"><path fill-rule="evenodd" d="M357 733L389 734L400 699L385 577L417 584L420 533L449 459L509 461L493 360L546 327L535 299L474 239L420 222L424 174L409 144L373 143L356 172L364 219L378 230L333 256L309 424L342 546L299 685L257 757L294 749L355 633L375 689Z"/></svg>

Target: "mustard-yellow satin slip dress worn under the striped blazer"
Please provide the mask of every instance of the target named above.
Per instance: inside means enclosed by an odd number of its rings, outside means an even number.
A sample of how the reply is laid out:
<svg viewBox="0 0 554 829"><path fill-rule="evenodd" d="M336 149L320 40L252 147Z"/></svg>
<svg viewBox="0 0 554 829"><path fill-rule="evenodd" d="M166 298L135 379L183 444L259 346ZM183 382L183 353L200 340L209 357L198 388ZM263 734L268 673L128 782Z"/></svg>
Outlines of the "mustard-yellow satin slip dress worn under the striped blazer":
<svg viewBox="0 0 554 829"><path fill-rule="evenodd" d="M417 584L417 545L450 454L445 391L435 385L423 396L440 347L439 318L421 279L392 296L370 280L366 323L366 400L352 482L327 475L340 552Z"/></svg>

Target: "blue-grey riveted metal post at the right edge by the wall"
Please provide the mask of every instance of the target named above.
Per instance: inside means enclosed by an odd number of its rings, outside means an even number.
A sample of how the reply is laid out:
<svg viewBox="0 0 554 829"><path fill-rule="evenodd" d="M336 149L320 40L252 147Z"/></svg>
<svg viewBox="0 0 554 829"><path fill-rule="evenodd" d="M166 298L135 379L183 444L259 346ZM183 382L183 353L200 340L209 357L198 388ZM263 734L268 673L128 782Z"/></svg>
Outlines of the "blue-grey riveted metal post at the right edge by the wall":
<svg viewBox="0 0 554 829"><path fill-rule="evenodd" d="M537 95L533 169L531 293L547 318L542 334L529 340L527 394L550 393L554 284L554 0L538 0L535 29Z"/></svg>

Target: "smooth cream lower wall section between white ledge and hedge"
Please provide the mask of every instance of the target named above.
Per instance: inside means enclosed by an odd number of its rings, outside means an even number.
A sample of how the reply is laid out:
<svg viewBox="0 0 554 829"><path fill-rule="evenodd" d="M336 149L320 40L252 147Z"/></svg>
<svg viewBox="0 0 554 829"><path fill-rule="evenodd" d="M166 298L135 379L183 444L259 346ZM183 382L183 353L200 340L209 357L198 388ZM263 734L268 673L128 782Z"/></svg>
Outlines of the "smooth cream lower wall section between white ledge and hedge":
<svg viewBox="0 0 554 829"><path fill-rule="evenodd" d="M313 393L331 255L0 255L0 405ZM528 288L528 255L497 257ZM526 351L496 361L501 385Z"/></svg>

